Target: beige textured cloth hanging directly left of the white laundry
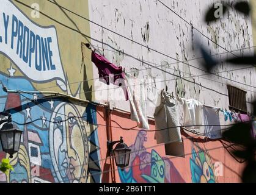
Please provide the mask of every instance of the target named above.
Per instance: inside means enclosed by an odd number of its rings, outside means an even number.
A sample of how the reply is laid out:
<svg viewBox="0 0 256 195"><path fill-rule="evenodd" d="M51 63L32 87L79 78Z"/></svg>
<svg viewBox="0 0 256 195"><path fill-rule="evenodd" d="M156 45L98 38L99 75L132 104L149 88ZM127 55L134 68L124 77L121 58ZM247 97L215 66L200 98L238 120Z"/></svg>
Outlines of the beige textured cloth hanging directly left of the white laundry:
<svg viewBox="0 0 256 195"><path fill-rule="evenodd" d="M175 100L170 93L162 90L159 94L160 103L155 109L154 118L156 131L155 139L159 143L182 142L178 112ZM171 127L171 128L170 128Z"/></svg>

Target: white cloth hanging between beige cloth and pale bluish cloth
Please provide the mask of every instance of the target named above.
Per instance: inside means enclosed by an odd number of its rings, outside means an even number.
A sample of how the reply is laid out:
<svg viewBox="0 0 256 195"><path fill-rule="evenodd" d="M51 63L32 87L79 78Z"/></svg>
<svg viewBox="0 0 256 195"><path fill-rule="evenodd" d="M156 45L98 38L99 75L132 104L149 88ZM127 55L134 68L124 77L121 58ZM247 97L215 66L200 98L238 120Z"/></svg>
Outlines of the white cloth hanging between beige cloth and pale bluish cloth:
<svg viewBox="0 0 256 195"><path fill-rule="evenodd" d="M193 129L197 133L204 135L203 125L203 104L196 99L181 98L184 109L184 126L187 129Z"/></svg>

